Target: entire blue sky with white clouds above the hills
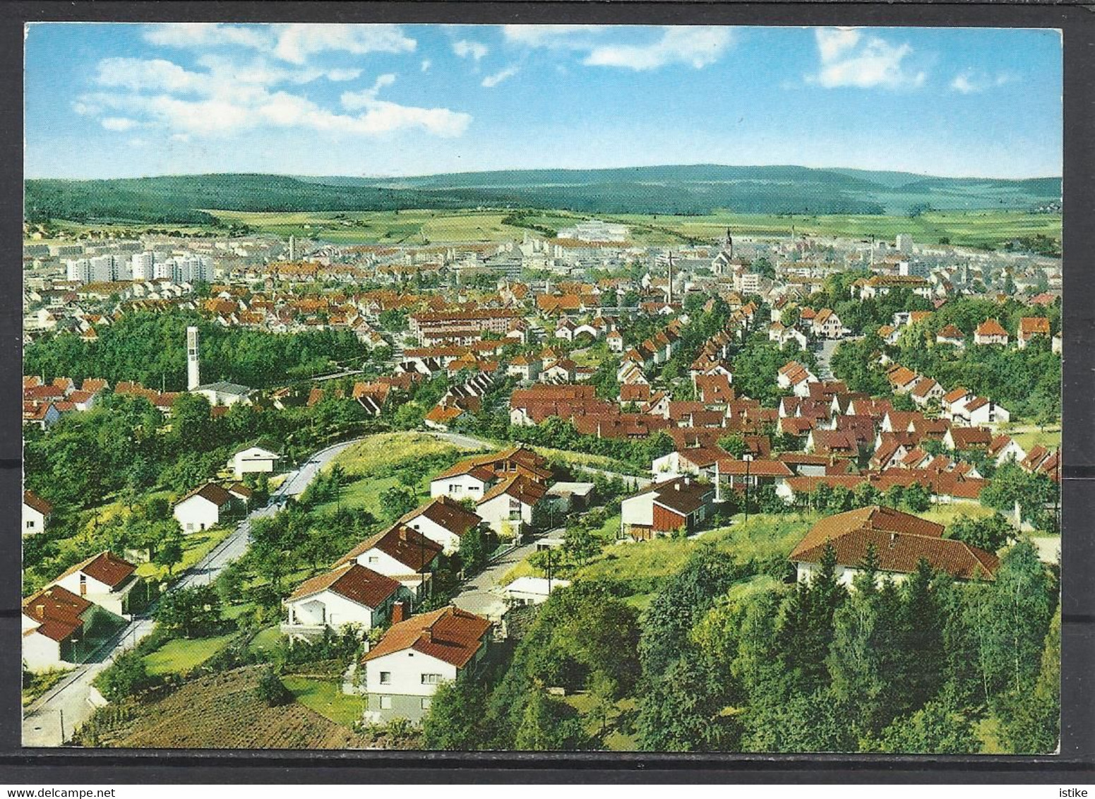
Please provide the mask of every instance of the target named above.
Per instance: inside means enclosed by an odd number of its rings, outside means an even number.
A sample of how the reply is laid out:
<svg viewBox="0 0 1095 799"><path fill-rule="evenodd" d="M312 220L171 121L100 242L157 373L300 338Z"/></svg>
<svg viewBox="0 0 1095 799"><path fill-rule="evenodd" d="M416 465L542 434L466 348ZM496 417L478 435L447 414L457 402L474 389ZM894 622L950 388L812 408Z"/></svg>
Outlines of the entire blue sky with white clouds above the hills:
<svg viewBox="0 0 1095 799"><path fill-rule="evenodd" d="M1061 174L1052 30L32 23L27 177Z"/></svg>

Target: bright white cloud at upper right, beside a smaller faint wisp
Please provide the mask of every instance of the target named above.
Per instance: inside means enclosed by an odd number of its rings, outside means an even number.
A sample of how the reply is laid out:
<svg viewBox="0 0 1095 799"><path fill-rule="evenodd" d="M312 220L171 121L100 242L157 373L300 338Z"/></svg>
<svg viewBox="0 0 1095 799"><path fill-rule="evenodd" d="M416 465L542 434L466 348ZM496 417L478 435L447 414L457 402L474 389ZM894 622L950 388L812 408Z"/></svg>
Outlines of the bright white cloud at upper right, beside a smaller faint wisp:
<svg viewBox="0 0 1095 799"><path fill-rule="evenodd" d="M852 28L818 28L815 37L821 66L817 74L807 76L810 83L826 89L908 89L923 85L927 78L904 65L912 54L908 44L892 45Z"/></svg>

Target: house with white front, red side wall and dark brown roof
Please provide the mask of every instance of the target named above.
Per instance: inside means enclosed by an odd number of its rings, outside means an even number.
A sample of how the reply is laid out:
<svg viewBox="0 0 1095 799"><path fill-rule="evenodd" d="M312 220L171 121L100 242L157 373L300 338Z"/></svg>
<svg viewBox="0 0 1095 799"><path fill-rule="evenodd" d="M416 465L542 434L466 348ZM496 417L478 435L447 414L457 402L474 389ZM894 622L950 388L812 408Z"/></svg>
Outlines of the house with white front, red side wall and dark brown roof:
<svg viewBox="0 0 1095 799"><path fill-rule="evenodd" d="M620 534L635 540L694 530L713 511L715 487L685 475L649 486L623 500Z"/></svg>

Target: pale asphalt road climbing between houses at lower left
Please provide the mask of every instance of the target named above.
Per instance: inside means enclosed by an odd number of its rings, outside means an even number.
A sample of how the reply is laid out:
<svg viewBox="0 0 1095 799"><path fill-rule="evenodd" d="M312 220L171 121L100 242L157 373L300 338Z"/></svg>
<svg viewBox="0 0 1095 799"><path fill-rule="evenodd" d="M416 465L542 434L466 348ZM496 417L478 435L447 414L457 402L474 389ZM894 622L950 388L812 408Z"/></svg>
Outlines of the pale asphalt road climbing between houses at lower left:
<svg viewBox="0 0 1095 799"><path fill-rule="evenodd" d="M359 440L344 441L320 450L297 470L290 472L277 490L270 495L270 501L265 507L253 510L227 539L191 567L182 579L172 586L171 590L212 582L224 567L246 552L251 535L251 522L254 519L276 513L280 500L302 494L323 466ZM155 622L152 618L135 618L122 628L114 638L103 645L101 650L93 656L96 658L94 662L77 667L50 691L38 697L23 716L23 745L61 745L65 737L71 736L73 729L87 721L94 710L90 697L91 684L95 676L110 665L118 655L136 646L138 641L149 635L154 625Z"/></svg>

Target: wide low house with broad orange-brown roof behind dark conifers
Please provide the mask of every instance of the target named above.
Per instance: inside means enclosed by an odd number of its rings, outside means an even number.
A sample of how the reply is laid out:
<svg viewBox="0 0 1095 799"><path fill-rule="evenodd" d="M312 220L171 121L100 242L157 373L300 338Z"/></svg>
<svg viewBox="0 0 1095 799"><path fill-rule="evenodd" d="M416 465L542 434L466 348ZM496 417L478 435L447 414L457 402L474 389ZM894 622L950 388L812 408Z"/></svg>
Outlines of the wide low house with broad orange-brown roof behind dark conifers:
<svg viewBox="0 0 1095 799"><path fill-rule="evenodd" d="M943 525L892 508L873 505L819 520L791 553L799 580L818 571L826 547L837 554L837 580L852 586L868 548L878 558L878 571L901 581L921 559L957 580L992 580L995 555L955 539L943 537Z"/></svg>

